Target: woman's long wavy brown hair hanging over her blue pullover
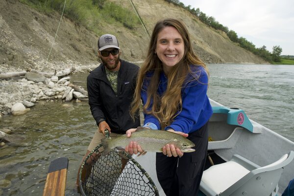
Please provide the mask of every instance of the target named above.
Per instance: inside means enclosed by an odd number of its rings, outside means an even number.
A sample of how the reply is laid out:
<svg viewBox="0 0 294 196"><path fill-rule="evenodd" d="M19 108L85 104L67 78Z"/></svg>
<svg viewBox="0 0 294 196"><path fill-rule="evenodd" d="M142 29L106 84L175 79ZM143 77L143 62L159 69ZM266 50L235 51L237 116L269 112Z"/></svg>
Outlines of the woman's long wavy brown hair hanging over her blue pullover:
<svg viewBox="0 0 294 196"><path fill-rule="evenodd" d="M176 28L182 36L184 40L184 56L175 66L172 67L171 71L169 72L169 75L167 76L167 90L163 96L160 97L157 93L157 87L159 84L159 76L163 71L163 68L161 60L155 54L155 49L158 33L166 27ZM165 19L158 21L150 38L147 58L138 73L134 101L130 111L131 115L134 116L135 112L140 109L141 91L143 90L142 85L146 77L146 73L149 71L154 71L153 76L148 79L150 82L149 86L147 87L147 103L145 103L145 106L143 107L143 112L155 116L159 120L162 130L166 126L170 125L178 111L182 110L181 88L188 73L191 73L189 65L202 66L208 74L206 65L198 56L196 56L193 51L190 35L185 25L176 19ZM195 80L197 80L197 78L195 78ZM153 102L152 108L151 110L147 110L150 106L151 100Z"/></svg>

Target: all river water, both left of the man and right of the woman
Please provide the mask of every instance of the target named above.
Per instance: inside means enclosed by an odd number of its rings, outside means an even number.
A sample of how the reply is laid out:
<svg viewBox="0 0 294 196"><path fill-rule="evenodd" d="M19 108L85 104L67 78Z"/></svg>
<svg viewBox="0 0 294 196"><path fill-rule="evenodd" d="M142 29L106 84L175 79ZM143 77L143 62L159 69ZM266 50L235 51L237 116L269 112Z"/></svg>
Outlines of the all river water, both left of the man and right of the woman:
<svg viewBox="0 0 294 196"><path fill-rule="evenodd" d="M209 64L211 99L294 141L294 66ZM73 75L86 87L88 73ZM25 115L2 116L24 140L0 149L0 196L41 196L51 161L69 159L66 196L79 196L75 179L97 129L87 102L39 102ZM8 183L5 188L1 183Z"/></svg>

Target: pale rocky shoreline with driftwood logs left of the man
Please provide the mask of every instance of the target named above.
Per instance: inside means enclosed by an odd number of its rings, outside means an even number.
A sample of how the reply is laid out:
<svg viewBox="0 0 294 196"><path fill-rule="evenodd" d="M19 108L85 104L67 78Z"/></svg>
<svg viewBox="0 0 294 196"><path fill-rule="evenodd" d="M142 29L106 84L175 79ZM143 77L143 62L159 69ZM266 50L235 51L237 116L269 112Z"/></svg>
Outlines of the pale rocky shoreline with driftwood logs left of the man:
<svg viewBox="0 0 294 196"><path fill-rule="evenodd" d="M45 67L45 66L44 66ZM70 75L90 71L97 63L80 65L48 64L46 69L0 68L0 119L3 115L21 115L37 101L61 99L64 102L88 98L87 91L70 82Z"/></svg>

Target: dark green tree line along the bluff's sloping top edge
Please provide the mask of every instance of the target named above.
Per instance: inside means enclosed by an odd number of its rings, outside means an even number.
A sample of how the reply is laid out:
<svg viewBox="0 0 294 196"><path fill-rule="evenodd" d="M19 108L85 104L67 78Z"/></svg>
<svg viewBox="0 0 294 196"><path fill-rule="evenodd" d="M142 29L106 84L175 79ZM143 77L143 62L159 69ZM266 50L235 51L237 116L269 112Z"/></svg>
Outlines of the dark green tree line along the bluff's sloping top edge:
<svg viewBox="0 0 294 196"><path fill-rule="evenodd" d="M179 0L165 0L184 9L188 10L194 16L199 18L201 22L206 24L209 27L215 28L216 30L221 30L226 33L228 38L238 43L240 47L252 52L256 56L260 56L261 58L265 59L269 62L280 62L281 61L281 53L282 48L280 46L273 46L272 53L267 50L266 46L262 46L260 48L256 48L252 42L249 42L244 37L238 37L237 33L233 30L229 30L229 28L221 25L216 19L212 16L208 16L205 13L201 12L199 8L191 8L191 5L185 6L184 3L180 2Z"/></svg>

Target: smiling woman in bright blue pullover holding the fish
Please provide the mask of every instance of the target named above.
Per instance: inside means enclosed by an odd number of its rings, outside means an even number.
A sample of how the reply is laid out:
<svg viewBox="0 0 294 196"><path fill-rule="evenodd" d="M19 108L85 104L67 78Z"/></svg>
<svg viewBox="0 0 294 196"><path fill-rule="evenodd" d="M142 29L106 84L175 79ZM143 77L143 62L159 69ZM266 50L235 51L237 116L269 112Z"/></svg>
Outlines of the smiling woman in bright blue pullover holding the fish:
<svg viewBox="0 0 294 196"><path fill-rule="evenodd" d="M194 53L184 23L176 19L158 21L147 59L139 70L131 112L140 108L142 99L144 127L153 132L171 131L195 143L194 152L184 153L170 143L156 154L158 181L167 196L198 193L207 153L207 125L212 115L207 87L207 67ZM126 134L130 137L135 131L129 129ZM143 153L144 148L131 141L125 151L137 154Z"/></svg>

